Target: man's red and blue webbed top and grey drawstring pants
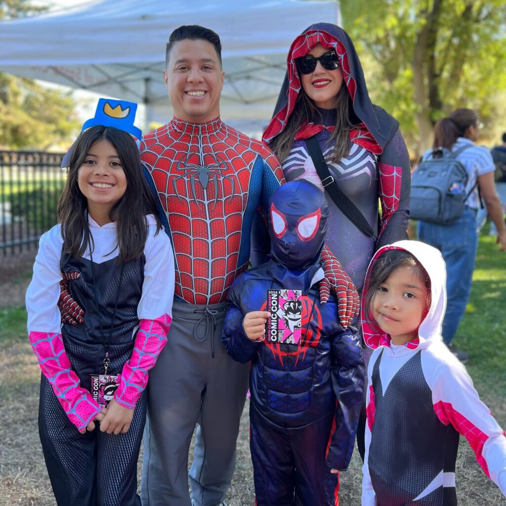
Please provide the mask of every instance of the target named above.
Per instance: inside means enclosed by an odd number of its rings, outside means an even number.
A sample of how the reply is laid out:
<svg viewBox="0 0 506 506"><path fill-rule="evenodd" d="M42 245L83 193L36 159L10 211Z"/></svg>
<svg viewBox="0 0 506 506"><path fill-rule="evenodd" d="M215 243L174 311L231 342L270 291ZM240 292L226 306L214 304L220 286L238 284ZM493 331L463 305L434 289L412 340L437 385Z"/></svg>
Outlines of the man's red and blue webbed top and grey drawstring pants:
<svg viewBox="0 0 506 506"><path fill-rule="evenodd" d="M187 455L198 421L193 503L220 504L234 471L249 371L221 344L224 303L247 268L257 208L266 212L283 175L269 149L219 118L174 118L144 137L141 159L176 263L173 327L150 373L142 501L189 506Z"/></svg>

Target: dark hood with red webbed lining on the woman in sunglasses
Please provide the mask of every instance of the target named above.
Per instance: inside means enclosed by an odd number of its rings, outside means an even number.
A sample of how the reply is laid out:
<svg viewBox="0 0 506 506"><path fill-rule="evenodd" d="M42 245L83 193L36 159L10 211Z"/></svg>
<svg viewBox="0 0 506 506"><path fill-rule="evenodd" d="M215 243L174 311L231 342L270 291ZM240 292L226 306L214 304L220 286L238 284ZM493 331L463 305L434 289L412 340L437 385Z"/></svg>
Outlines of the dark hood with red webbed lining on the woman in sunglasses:
<svg viewBox="0 0 506 506"><path fill-rule="evenodd" d="M302 88L295 60L307 55L318 43L324 48L333 49L338 55L343 82L352 98L353 110L360 120L357 129L350 132L351 142L374 154L381 154L397 132L399 122L384 109L371 103L362 66L350 36L339 26L330 23L311 25L293 41L288 51L287 71L274 115L263 135L264 142L270 144L285 129ZM296 139L307 139L324 128L333 130L333 126L325 127L312 122L301 124Z"/></svg>

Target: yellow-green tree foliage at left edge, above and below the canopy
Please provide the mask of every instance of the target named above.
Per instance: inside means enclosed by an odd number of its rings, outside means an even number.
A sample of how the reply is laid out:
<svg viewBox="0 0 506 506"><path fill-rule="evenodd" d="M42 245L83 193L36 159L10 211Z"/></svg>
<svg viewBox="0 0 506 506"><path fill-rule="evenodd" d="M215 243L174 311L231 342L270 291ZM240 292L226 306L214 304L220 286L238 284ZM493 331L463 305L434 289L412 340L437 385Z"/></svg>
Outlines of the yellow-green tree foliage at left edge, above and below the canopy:
<svg viewBox="0 0 506 506"><path fill-rule="evenodd" d="M0 20L43 10L30 0L0 1ZM79 126L74 106L66 93L0 72L0 147L44 150L68 139Z"/></svg>

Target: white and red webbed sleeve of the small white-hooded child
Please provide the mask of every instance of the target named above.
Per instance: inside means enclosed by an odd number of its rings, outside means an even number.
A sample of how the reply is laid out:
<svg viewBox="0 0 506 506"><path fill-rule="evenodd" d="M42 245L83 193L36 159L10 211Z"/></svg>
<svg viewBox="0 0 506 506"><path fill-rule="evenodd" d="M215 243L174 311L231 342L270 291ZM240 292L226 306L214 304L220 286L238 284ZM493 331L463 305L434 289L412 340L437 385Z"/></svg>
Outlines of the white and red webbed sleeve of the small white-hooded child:
<svg viewBox="0 0 506 506"><path fill-rule="evenodd" d="M460 362L443 363L432 388L434 410L465 436L485 474L506 495L506 438Z"/></svg>

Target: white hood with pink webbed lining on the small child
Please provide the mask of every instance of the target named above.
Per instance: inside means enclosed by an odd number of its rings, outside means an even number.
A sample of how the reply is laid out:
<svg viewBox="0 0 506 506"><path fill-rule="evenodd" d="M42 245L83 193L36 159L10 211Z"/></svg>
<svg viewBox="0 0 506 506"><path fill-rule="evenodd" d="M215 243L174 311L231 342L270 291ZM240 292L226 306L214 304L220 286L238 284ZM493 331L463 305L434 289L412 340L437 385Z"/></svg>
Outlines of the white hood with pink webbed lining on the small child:
<svg viewBox="0 0 506 506"><path fill-rule="evenodd" d="M370 276L374 263L383 252L389 249L401 249L409 252L427 271L431 280L431 306L418 328L418 339L406 344L406 352L413 349L427 348L431 343L442 342L441 324L446 309L446 267L441 252L419 241L398 241L378 249L372 258L365 276L362 292L362 331L365 344L372 349L390 345L390 335L383 332L375 321L367 321L365 300L370 284ZM371 315L372 318L372 315Z"/></svg>

